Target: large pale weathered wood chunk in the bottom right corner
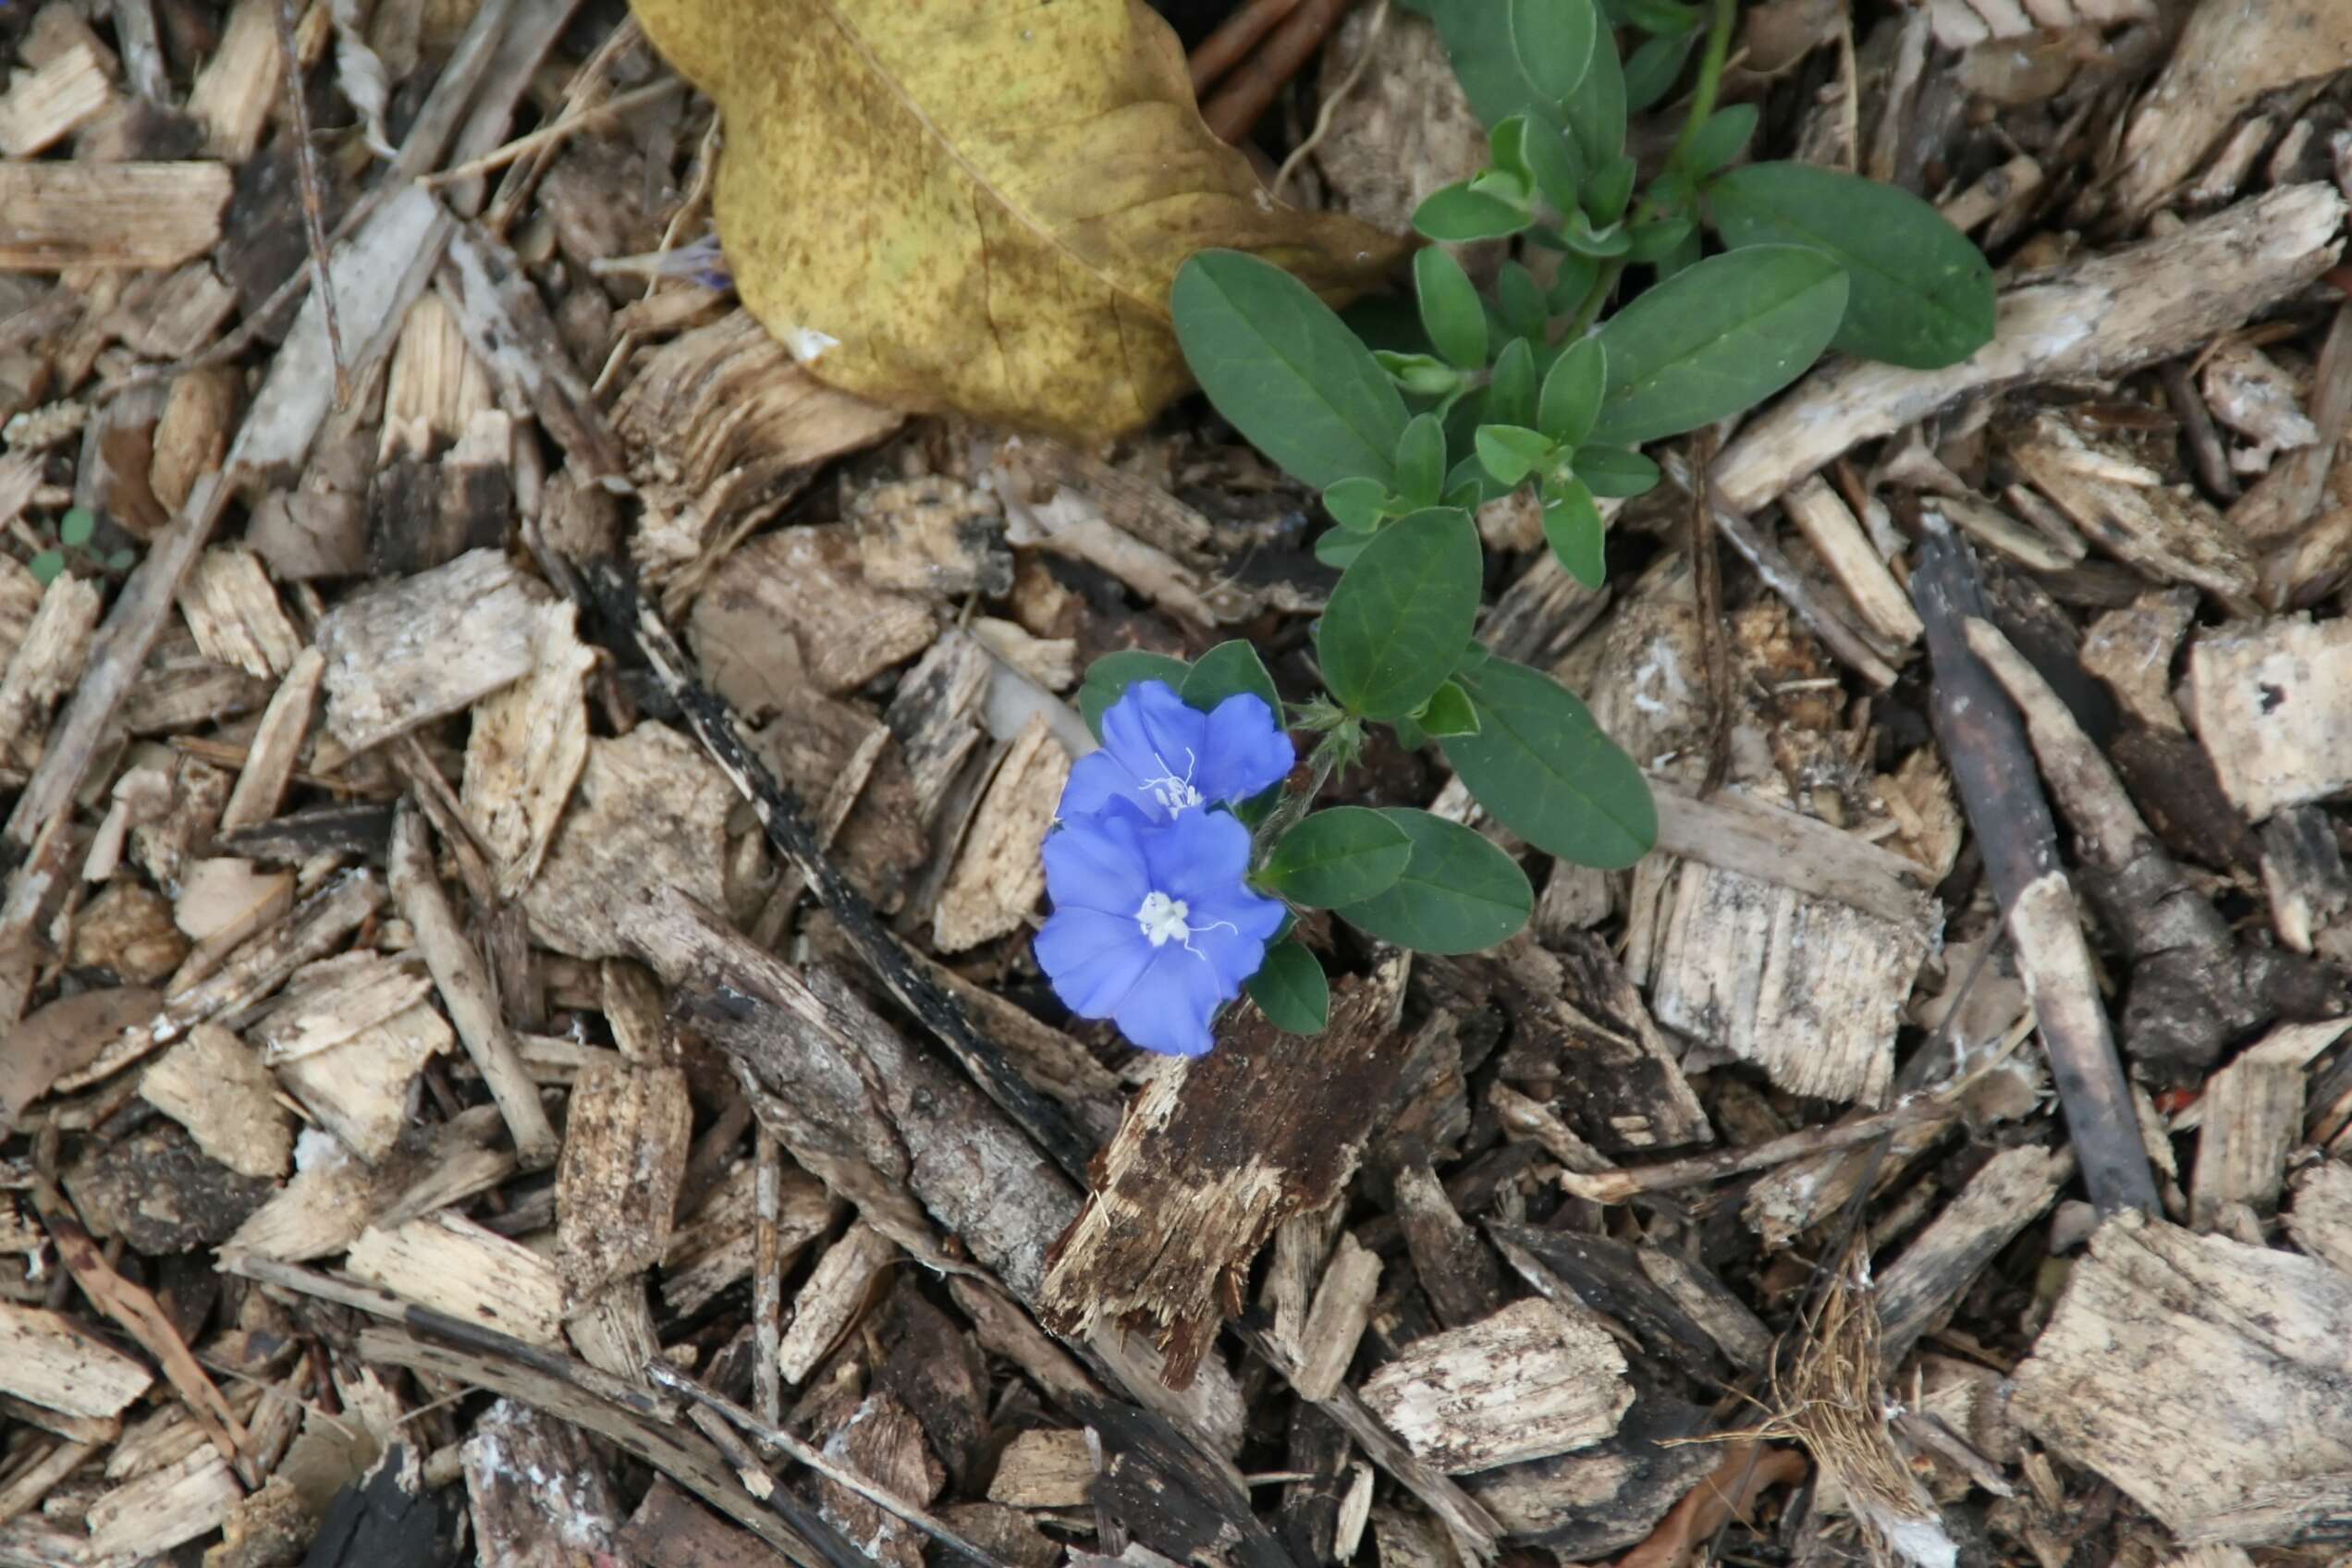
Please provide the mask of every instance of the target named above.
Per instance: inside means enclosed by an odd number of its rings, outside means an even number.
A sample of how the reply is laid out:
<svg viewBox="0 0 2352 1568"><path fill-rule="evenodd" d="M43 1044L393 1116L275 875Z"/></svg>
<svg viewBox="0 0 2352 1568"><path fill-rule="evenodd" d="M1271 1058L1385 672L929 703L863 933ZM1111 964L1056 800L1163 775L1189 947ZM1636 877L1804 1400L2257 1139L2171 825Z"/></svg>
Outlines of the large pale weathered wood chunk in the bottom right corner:
<svg viewBox="0 0 2352 1568"><path fill-rule="evenodd" d="M2117 1215L2093 1237L2011 1415L2180 1537L2284 1544L2265 1505L2352 1472L2343 1324L2352 1276Z"/></svg>

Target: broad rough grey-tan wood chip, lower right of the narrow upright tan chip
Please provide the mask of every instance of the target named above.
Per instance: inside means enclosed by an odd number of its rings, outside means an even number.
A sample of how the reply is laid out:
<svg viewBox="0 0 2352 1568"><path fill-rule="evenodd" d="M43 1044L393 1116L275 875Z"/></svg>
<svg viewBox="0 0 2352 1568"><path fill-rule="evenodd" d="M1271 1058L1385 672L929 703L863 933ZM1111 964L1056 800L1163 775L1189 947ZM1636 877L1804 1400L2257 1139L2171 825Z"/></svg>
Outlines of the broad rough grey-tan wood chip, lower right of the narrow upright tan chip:
<svg viewBox="0 0 2352 1568"><path fill-rule="evenodd" d="M727 778L675 729L588 741L572 806L522 898L532 936L583 959L635 957L656 893L724 905L734 804Z"/></svg>

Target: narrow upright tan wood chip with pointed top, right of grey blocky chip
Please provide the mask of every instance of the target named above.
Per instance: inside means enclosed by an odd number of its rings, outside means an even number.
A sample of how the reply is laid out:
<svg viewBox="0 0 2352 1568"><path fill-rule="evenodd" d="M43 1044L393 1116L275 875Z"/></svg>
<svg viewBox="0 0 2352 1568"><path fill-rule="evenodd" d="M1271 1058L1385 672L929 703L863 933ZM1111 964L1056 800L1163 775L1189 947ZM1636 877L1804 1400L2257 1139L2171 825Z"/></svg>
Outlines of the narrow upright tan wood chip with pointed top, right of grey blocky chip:
<svg viewBox="0 0 2352 1568"><path fill-rule="evenodd" d="M574 632L569 602L539 607L532 670L473 710L459 799L496 856L499 896L522 898L546 860L572 785L588 762L588 672L595 651Z"/></svg>

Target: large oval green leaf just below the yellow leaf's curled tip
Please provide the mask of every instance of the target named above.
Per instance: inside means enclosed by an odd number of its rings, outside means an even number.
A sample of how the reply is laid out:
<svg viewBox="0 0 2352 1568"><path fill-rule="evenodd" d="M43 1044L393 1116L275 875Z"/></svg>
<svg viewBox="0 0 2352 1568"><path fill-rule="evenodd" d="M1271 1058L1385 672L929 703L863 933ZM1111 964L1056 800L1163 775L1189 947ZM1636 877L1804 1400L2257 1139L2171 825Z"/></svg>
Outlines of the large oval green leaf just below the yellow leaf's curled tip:
<svg viewBox="0 0 2352 1568"><path fill-rule="evenodd" d="M1404 400L1312 289L1270 261L1200 252L1169 310L1200 390L1284 473L1315 489L1388 480Z"/></svg>

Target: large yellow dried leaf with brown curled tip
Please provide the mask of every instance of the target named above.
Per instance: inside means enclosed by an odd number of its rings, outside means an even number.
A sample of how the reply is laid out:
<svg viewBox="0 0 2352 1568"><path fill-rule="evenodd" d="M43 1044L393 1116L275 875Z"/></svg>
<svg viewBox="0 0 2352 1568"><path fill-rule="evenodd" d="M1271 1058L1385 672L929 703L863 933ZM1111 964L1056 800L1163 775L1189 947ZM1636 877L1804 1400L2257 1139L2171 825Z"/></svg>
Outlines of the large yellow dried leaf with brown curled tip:
<svg viewBox="0 0 2352 1568"><path fill-rule="evenodd" d="M816 376L1103 437L1190 386L1169 284L1256 252L1343 301L1402 240L1265 193L1143 0L635 0L724 115L743 303Z"/></svg>

